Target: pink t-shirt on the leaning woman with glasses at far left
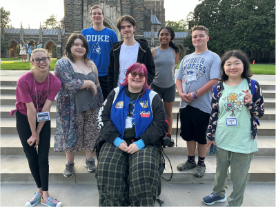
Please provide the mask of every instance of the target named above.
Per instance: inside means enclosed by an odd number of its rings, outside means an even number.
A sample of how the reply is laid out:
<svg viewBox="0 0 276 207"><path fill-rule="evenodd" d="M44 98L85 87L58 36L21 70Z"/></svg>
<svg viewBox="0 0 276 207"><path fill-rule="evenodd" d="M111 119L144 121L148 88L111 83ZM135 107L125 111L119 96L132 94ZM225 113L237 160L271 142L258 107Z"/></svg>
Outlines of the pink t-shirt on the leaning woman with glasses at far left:
<svg viewBox="0 0 276 207"><path fill-rule="evenodd" d="M34 103L34 108L41 112L41 109L46 103L48 97L48 88L49 88L49 100L55 101L55 97L59 89L61 88L61 81L49 73L49 79L46 78L45 81L39 83L35 80L35 86L37 88L37 97L35 95L36 90L34 87L34 75L32 71L22 75L17 81L17 103L15 103L15 110L10 112L10 115L13 116L14 112L19 111L23 115L27 115L27 106L26 103ZM49 80L49 81L48 81ZM46 103L47 104L47 103Z"/></svg>

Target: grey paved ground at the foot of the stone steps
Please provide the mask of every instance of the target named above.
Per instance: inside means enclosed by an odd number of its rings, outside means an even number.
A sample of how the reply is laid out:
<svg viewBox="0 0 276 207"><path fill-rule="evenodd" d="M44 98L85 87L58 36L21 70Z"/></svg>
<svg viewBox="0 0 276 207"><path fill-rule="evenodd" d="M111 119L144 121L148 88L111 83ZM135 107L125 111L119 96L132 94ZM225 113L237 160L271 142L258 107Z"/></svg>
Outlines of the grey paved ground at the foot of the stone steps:
<svg viewBox="0 0 276 207"><path fill-rule="evenodd" d="M226 196L233 190L228 184ZM1 206L23 206L37 190L35 184L1 184ZM162 184L163 206L206 206L201 199L212 193L212 184ZM98 206L96 184L50 184L49 194L63 206ZM260 197L260 194L263 195ZM20 195L20 196L17 196ZM15 197L14 197L15 196ZM226 206L216 203L213 206ZM40 203L37 206L43 206ZM155 206L158 206L155 203ZM248 184L242 206L275 206L275 184Z"/></svg>

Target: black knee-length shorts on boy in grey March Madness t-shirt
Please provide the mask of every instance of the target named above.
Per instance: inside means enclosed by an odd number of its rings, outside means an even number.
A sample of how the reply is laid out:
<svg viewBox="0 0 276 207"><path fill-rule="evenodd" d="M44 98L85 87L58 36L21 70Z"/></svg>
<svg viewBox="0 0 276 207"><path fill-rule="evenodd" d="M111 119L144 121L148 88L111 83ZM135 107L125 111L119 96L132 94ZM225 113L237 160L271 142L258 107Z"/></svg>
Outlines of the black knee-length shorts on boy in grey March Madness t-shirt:
<svg viewBox="0 0 276 207"><path fill-rule="evenodd" d="M206 131L210 114L193 106L180 108L180 136L185 141L197 141L198 144L206 144Z"/></svg>

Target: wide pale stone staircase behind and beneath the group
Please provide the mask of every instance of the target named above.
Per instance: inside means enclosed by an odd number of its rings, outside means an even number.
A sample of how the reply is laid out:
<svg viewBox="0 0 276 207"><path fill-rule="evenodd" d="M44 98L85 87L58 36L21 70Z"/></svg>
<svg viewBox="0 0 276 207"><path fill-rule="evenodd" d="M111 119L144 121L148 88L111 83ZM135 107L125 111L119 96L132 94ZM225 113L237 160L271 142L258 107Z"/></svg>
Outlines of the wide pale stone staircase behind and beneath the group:
<svg viewBox="0 0 276 207"><path fill-rule="evenodd" d="M262 81L261 88L264 94L265 115L259 119L261 126L258 127L258 147L255 157L250 166L248 182L275 182L275 85ZM15 128L16 121L10 116L10 110L14 109L16 81L1 81L1 184L27 184L34 183L34 179L28 168L28 161L23 152L21 141ZM172 109L173 124L172 138L176 138L177 112L179 111L180 97L176 91L175 104ZM90 173L83 166L85 163L85 152L81 151L75 156L75 174L72 177L63 177L63 170L66 164L65 152L54 152L55 135L55 112L56 102L51 108L51 145L50 145L50 183L94 183L95 174ZM180 126L180 121L179 121ZM179 131L178 131L179 132ZM175 140L176 141L176 140ZM193 170L179 172L177 165L186 160L186 141L178 136L177 147L165 148L172 164L173 176L171 181L163 183L172 184L212 184L215 175L215 155L206 153L206 174L201 179L193 177ZM197 157L196 157L197 160ZM166 159L166 170L163 177L170 178L171 169L169 161ZM229 179L230 180L230 176Z"/></svg>

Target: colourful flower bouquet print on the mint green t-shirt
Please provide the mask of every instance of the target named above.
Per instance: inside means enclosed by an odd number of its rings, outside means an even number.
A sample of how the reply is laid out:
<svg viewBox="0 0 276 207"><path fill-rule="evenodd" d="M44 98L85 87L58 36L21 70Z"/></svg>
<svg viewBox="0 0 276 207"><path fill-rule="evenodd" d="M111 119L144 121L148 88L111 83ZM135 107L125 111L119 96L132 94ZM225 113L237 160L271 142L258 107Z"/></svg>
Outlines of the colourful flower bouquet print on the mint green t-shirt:
<svg viewBox="0 0 276 207"><path fill-rule="evenodd" d="M227 102L224 104L226 111L231 112L230 117L235 117L235 112L240 112L242 109L242 106L244 106L244 100L239 99L239 96L241 96L242 93L237 93L233 92L228 95L228 97L224 97L223 100Z"/></svg>

